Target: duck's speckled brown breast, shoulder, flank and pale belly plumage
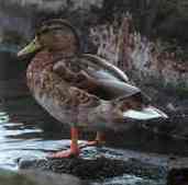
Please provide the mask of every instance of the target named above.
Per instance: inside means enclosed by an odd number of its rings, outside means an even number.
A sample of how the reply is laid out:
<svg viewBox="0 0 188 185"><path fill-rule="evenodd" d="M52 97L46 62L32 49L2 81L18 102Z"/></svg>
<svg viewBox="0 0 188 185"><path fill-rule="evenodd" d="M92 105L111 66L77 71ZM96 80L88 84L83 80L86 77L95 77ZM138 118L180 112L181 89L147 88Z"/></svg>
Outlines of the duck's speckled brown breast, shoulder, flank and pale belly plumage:
<svg viewBox="0 0 188 185"><path fill-rule="evenodd" d="M26 74L27 85L37 102L63 123L98 127L99 122L104 126L118 116L123 122L120 109L115 111L110 101L95 94L99 84L78 63L81 57L55 60L47 50L36 54ZM112 118L112 114L117 116Z"/></svg>

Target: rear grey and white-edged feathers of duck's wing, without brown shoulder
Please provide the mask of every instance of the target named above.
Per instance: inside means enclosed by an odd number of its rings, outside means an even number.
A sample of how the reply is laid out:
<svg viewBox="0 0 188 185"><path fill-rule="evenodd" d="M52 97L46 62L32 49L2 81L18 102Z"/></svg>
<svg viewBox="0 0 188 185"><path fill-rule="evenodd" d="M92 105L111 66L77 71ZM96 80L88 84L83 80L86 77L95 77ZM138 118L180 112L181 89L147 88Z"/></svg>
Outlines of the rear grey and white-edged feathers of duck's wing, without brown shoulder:
<svg viewBox="0 0 188 185"><path fill-rule="evenodd" d="M141 90L129 83L128 76L114 65L96 55L84 54L80 57L80 68L97 85L93 93L104 100L120 96L131 96Z"/></svg>

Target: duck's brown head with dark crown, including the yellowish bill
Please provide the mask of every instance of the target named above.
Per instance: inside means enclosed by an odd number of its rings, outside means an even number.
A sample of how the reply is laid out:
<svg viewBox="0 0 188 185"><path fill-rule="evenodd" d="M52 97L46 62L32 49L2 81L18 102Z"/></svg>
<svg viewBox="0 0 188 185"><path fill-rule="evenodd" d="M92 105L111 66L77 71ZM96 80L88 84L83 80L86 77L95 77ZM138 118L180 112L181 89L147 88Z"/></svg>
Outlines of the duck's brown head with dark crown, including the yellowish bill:
<svg viewBox="0 0 188 185"><path fill-rule="evenodd" d="M18 53L18 56L49 50L74 55L80 51L79 37L75 28L65 20L49 20L37 28L35 38Z"/></svg>

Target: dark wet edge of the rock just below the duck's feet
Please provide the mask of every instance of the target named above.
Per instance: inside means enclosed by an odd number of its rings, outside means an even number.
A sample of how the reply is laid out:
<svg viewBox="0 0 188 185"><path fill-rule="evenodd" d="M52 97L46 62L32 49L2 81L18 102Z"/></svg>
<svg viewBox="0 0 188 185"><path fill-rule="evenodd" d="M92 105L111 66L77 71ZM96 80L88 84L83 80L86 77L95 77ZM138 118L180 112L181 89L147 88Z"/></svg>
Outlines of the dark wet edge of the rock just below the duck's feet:
<svg viewBox="0 0 188 185"><path fill-rule="evenodd" d="M81 180L104 180L108 177L133 174L147 178L166 178L165 167L146 164L139 160L129 159L128 161L108 158L97 159L41 159L41 160L20 160L21 170L41 170L54 173L66 173Z"/></svg>

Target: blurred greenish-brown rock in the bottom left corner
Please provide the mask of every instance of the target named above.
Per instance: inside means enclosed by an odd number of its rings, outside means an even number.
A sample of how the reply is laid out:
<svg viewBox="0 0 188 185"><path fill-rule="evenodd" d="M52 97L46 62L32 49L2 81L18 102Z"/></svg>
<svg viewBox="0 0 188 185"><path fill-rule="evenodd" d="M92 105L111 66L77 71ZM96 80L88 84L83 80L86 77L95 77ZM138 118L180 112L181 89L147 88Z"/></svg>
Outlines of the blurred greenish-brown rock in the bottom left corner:
<svg viewBox="0 0 188 185"><path fill-rule="evenodd" d="M41 171L20 171L18 173L0 170L1 185L85 185L87 183L67 174Z"/></svg>

